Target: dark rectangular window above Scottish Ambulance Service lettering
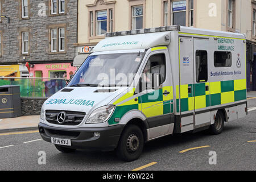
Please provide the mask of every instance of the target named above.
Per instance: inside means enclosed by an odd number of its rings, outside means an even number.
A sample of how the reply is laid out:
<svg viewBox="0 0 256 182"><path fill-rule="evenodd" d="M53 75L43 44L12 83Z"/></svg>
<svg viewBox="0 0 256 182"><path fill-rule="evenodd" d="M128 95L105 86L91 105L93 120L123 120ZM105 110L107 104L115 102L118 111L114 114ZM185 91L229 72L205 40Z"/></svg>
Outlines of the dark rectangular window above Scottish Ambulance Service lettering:
<svg viewBox="0 0 256 182"><path fill-rule="evenodd" d="M232 53L215 51L214 52L214 67L231 67Z"/></svg>

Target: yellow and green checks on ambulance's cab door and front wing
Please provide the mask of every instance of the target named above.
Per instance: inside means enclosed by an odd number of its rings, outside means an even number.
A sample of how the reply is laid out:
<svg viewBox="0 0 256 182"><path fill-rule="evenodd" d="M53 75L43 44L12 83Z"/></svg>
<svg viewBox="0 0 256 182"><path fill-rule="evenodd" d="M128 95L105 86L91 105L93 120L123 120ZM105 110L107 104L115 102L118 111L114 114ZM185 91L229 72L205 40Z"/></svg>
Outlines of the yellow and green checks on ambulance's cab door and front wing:
<svg viewBox="0 0 256 182"><path fill-rule="evenodd" d="M133 97L134 92L135 88L113 103L116 107L112 117L108 120L109 125L117 124L114 119L121 119L130 110L140 110L147 118L174 112L172 86L164 86L162 89L142 94L136 98ZM164 92L170 92L170 94L164 95Z"/></svg>

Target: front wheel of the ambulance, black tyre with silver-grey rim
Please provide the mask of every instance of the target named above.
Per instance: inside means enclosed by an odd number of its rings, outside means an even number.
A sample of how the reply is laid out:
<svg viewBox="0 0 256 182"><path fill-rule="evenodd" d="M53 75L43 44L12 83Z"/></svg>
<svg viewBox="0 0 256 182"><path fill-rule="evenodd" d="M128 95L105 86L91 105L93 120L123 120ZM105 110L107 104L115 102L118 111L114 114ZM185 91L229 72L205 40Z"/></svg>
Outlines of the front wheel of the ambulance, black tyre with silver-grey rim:
<svg viewBox="0 0 256 182"><path fill-rule="evenodd" d="M141 156L144 138L141 129L136 125L128 125L123 131L117 149L117 156L126 162L136 160Z"/></svg>

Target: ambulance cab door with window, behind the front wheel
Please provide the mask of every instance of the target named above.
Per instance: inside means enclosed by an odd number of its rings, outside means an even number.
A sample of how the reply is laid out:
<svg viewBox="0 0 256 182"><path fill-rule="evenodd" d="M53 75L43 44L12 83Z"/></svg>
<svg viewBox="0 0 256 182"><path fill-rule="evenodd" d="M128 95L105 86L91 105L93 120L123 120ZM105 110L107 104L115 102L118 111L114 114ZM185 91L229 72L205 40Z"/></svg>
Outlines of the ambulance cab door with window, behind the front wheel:
<svg viewBox="0 0 256 182"><path fill-rule="evenodd" d="M148 139L171 134L173 131L174 102L170 64L166 47L166 49L150 52L142 71L142 92L139 104L147 118ZM154 83L152 77L154 77Z"/></svg>

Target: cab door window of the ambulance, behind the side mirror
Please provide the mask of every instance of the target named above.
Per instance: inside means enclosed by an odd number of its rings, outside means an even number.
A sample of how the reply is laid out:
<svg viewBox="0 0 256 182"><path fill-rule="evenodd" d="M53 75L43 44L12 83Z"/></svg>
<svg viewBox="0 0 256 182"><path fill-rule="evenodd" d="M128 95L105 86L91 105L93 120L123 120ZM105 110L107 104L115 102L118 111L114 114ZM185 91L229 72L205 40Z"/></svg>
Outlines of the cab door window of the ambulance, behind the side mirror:
<svg viewBox="0 0 256 182"><path fill-rule="evenodd" d="M165 81L166 56L164 53L152 55L147 61L146 67L142 73L142 80L146 82L147 88L152 88L152 75L154 75L154 78L159 79L159 85L154 85L153 87L159 87Z"/></svg>

